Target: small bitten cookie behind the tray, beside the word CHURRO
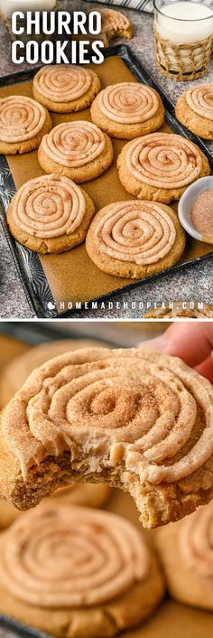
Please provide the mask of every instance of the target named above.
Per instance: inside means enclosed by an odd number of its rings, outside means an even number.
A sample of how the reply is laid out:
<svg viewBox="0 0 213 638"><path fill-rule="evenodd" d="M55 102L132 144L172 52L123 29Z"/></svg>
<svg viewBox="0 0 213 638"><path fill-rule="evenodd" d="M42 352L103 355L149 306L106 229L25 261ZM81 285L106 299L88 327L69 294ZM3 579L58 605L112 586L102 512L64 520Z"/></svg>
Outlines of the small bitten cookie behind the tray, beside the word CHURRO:
<svg viewBox="0 0 213 638"><path fill-rule="evenodd" d="M98 9L101 14L101 33L98 39L104 38L106 46L113 38L131 40L134 34L133 24L127 15L115 9Z"/></svg>

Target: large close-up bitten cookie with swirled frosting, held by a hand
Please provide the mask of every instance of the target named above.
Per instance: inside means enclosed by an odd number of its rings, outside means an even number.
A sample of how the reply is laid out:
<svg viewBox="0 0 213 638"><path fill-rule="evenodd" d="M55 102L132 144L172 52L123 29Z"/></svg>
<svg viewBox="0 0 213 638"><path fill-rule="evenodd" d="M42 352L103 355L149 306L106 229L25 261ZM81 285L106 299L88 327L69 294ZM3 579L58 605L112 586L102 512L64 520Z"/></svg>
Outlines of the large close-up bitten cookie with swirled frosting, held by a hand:
<svg viewBox="0 0 213 638"><path fill-rule="evenodd" d="M0 421L0 495L28 509L75 481L132 494L144 527L213 497L213 389L181 360L88 348L42 365Z"/></svg>

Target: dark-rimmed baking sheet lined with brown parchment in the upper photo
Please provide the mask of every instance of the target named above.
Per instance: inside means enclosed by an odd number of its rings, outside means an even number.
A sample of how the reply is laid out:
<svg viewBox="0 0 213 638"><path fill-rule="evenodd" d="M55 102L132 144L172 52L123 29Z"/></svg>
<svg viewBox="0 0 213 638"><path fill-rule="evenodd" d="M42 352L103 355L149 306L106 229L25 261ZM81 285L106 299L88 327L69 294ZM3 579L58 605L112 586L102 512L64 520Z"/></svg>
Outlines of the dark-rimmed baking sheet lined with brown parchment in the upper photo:
<svg viewBox="0 0 213 638"><path fill-rule="evenodd" d="M121 80L133 81L140 79L142 81L149 82L159 90L159 87L156 87L156 84L150 79L147 72L143 70L143 67L140 63L138 63L135 56L132 52L130 52L126 45L117 45L116 48L112 48L112 52L115 52L115 49L116 52L119 52L119 55L112 55L110 54L110 50L108 50L106 53L106 60L103 64L98 66L90 65L91 68L97 71L101 80L102 88L105 88L108 84L116 83ZM123 59L121 59L121 57L123 57ZM127 60L128 66L133 72L127 68ZM32 71L24 74L16 74L16 80L22 80L23 78L26 80L30 76L32 76ZM161 90L159 90L159 92L161 92ZM13 86L10 85L0 89L0 97L5 97L14 93L32 96L32 81L30 80L22 84L14 84ZM172 125L172 130L174 132L183 134L183 127L177 123L172 114L172 105L170 100L166 99L164 95L162 95L162 99L167 109L168 124L170 124L170 126ZM90 118L89 109L71 115L51 113L51 117L53 126L62 121ZM161 130L168 131L168 124L163 125ZM195 140L195 137L191 134L187 134L187 136L193 141L198 141L197 139ZM96 180L82 184L95 202L96 211L100 210L100 208L105 206L106 203L134 199L134 196L125 192L125 188L119 182L116 170L116 157L119 155L121 148L125 143L126 141L113 140L115 153L113 164L109 167L106 173L98 177ZM208 147L206 148L205 144L202 142L200 142L200 145L202 145L202 150L204 150L204 152L208 155L208 159L211 159ZM8 167L9 173L6 174ZM37 151L20 156L7 156L5 165L2 165L1 173L3 175L3 180L2 187L0 188L0 194L2 193L2 199L6 209L6 206L13 194L13 183L15 192L15 189L19 188L27 180L43 174L42 168L38 163ZM5 174L6 177L4 183ZM13 176L11 182L10 174ZM174 208L177 210L177 204L174 205ZM69 302L71 302L74 306L78 302L84 304L85 302L89 302L97 298L106 297L115 291L120 292L120 290L126 286L138 286L143 281L113 277L103 273L95 266L91 259L88 258L84 244L81 244L79 247L60 255L45 255L39 257L36 253L32 253L31 250L25 249L15 242L6 230L4 219L3 224L10 246L15 250L14 256L18 258L23 283L27 288L28 298L30 298L38 316L69 316L70 312L67 312L67 304ZM212 254L212 245L196 241L188 236L187 246L181 260L176 266L169 270L173 271L178 267L181 267L183 264L194 260L208 258L208 256ZM157 277L161 277L161 275L162 273L158 274ZM153 277L149 278L153 279ZM60 313L60 302L65 304L65 312L62 310Z"/></svg>

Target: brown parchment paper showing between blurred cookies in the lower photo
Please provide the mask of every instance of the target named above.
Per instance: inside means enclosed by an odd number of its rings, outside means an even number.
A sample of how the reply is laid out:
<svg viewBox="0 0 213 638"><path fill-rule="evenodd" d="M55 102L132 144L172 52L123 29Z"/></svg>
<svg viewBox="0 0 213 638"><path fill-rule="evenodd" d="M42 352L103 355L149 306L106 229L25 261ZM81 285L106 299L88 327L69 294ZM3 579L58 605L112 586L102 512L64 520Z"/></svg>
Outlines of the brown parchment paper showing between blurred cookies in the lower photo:
<svg viewBox="0 0 213 638"><path fill-rule="evenodd" d="M26 352L29 346L2 334L0 335L0 348L0 371L2 372L4 365L11 361L13 356ZM118 490L112 491L106 509L124 516L141 529L138 512L129 494ZM154 533L155 531L145 532L151 545L154 541ZM122 633L124 638L165 638L165 636L168 638L180 638L180 636L181 638L212 638L212 635L213 614L175 603L169 596L165 596L162 604L146 623L132 631Z"/></svg>

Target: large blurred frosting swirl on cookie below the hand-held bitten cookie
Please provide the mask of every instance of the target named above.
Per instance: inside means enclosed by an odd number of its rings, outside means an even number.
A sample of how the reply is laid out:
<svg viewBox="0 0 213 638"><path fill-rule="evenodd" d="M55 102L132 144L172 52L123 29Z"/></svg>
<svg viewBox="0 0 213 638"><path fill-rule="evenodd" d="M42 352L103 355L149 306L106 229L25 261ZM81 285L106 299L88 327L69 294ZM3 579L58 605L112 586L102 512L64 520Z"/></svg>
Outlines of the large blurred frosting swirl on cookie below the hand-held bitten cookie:
<svg viewBox="0 0 213 638"><path fill-rule="evenodd" d="M0 543L0 582L27 605L107 603L149 574L142 535L125 519L83 507L43 506Z"/></svg>

